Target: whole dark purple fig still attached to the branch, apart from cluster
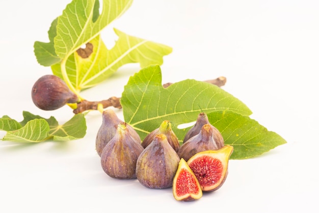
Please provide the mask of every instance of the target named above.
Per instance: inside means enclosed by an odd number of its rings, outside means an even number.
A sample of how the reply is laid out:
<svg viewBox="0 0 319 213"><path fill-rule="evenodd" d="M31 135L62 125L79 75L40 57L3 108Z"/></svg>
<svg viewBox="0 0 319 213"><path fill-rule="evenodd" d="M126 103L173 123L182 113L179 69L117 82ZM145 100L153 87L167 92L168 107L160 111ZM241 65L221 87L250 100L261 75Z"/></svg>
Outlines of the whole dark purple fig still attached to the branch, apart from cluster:
<svg viewBox="0 0 319 213"><path fill-rule="evenodd" d="M67 103L76 103L78 97L56 75L43 75L32 87L32 100L41 110L57 110Z"/></svg>

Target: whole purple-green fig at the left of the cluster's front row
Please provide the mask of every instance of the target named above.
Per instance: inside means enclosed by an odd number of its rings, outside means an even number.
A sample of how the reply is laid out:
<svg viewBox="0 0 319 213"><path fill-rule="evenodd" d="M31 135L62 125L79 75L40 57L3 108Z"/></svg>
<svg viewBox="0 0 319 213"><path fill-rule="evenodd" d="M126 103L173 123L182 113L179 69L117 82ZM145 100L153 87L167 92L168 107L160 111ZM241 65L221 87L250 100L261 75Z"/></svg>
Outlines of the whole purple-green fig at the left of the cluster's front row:
<svg viewBox="0 0 319 213"><path fill-rule="evenodd" d="M132 137L127 124L118 124L114 137L101 153L101 166L105 173L117 179L136 178L136 162L144 150L140 141Z"/></svg>

